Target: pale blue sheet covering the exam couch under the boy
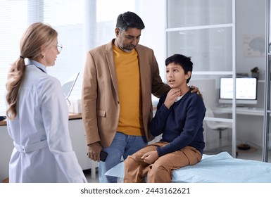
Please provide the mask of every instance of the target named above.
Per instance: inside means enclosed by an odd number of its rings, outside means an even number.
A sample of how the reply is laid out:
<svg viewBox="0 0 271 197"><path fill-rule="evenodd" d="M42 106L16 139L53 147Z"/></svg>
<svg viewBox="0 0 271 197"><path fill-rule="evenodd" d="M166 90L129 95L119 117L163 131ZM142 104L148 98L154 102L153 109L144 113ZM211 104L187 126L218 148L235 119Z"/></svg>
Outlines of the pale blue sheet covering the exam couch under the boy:
<svg viewBox="0 0 271 197"><path fill-rule="evenodd" d="M123 179L123 163L108 170L106 175ZM200 163L173 170L172 182L271 183L271 163L232 158L227 152L203 155Z"/></svg>

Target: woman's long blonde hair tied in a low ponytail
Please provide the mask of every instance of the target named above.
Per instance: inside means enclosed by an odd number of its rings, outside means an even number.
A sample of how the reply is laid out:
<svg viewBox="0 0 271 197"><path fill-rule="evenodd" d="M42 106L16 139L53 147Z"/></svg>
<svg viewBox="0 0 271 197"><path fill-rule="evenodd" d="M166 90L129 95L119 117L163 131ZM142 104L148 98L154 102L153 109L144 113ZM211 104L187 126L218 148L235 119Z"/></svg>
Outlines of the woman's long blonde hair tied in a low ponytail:
<svg viewBox="0 0 271 197"><path fill-rule="evenodd" d="M33 23L20 39L20 56L11 64L6 82L6 101L8 109L6 115L13 120L17 115L16 104L20 85L25 75L25 58L39 62L42 58L42 49L50 46L58 37L58 33L50 25ZM42 48L43 47L43 48Z"/></svg>

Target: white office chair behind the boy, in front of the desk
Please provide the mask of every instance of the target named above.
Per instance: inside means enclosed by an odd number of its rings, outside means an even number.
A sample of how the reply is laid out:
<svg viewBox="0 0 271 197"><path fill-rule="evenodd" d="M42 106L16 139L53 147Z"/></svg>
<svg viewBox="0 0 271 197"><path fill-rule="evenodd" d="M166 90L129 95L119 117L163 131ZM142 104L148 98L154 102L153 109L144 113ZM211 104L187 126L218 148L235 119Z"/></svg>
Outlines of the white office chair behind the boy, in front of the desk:
<svg viewBox="0 0 271 197"><path fill-rule="evenodd" d="M215 117L213 111L206 106L206 117ZM232 129L231 122L215 122L206 120L206 125L209 129L215 130L219 132L219 145L218 145L218 153L222 151L222 132L227 129Z"/></svg>

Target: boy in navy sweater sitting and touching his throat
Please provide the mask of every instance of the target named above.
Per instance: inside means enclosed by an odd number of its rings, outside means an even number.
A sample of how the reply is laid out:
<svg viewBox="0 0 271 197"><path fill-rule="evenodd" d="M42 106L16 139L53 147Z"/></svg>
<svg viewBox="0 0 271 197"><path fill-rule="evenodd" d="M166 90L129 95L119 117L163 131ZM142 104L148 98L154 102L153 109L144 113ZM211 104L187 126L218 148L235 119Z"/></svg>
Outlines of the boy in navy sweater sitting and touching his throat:
<svg viewBox="0 0 271 197"><path fill-rule="evenodd" d="M162 96L151 121L153 136L162 134L155 144L145 146L125 160L124 182L171 182L172 170L195 165L201 160L205 142L203 98L191 93L191 58L175 54L165 60L166 78L172 88Z"/></svg>

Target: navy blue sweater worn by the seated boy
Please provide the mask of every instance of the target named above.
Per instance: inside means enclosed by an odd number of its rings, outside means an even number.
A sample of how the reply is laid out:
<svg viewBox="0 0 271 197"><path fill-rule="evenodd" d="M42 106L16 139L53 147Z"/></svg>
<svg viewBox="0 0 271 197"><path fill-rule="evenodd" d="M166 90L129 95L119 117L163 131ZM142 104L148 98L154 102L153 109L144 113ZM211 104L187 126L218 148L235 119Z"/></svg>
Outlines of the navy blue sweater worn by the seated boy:
<svg viewBox="0 0 271 197"><path fill-rule="evenodd" d="M156 115L150 125L153 136L163 134L160 141L170 143L158 147L158 155L172 153L185 146L193 146L202 154L205 147L203 119L206 113L203 99L188 91L168 109L164 104L165 98L166 94L160 98Z"/></svg>

